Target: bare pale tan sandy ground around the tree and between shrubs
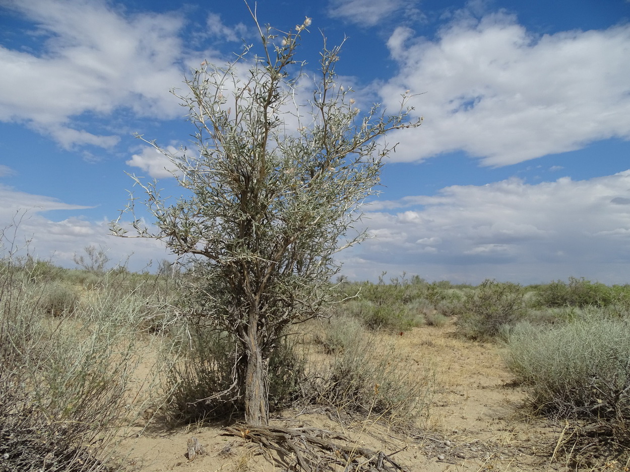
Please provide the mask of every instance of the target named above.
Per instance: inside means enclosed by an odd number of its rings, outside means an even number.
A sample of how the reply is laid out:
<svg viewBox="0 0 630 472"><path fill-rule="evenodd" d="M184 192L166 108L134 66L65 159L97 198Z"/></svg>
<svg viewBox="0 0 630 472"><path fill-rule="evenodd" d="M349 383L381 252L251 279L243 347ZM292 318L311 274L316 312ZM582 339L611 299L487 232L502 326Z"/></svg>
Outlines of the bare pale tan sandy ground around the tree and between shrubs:
<svg viewBox="0 0 630 472"><path fill-rule="evenodd" d="M409 472L571 470L561 454L551 459L563 434L562 425L527 419L521 408L525 393L513 385L498 346L458 339L452 324L416 328L391 337L410 375L423 375L428 365L435 366L435 396L430 415L419 430L391 432L374 424L341 426L321 413L292 411L282 412L272 423L334 430L360 446L387 453L400 451L393 457ZM186 447L193 437L205 453L191 461ZM270 464L254 444L224 435L222 425L192 425L169 432L145 430L140 437L123 442L122 451L130 469L138 472L282 470Z"/></svg>

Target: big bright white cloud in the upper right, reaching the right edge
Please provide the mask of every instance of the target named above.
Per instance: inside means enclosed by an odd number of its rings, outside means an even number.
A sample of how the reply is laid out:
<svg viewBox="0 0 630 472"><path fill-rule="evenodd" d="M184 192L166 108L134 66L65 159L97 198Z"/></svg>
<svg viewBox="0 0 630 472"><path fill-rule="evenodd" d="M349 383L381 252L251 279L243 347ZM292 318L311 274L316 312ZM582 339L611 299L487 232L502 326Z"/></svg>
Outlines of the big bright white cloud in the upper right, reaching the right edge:
<svg viewBox="0 0 630 472"><path fill-rule="evenodd" d="M388 42L399 74L381 90L395 109L417 96L421 130L392 133L392 159L421 161L464 150L506 166L630 138L630 25L537 37L515 16L460 12L435 40L400 26Z"/></svg>

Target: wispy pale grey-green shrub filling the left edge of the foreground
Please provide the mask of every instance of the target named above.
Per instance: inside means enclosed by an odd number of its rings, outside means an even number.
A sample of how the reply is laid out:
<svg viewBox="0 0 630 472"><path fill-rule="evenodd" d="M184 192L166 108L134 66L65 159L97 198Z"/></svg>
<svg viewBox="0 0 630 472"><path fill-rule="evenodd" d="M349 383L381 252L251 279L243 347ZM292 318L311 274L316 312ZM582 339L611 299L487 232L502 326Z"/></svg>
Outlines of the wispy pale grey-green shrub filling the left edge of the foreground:
<svg viewBox="0 0 630 472"><path fill-rule="evenodd" d="M110 471L132 411L134 323L93 310L49 317L28 274L11 261L0 273L0 471Z"/></svg>

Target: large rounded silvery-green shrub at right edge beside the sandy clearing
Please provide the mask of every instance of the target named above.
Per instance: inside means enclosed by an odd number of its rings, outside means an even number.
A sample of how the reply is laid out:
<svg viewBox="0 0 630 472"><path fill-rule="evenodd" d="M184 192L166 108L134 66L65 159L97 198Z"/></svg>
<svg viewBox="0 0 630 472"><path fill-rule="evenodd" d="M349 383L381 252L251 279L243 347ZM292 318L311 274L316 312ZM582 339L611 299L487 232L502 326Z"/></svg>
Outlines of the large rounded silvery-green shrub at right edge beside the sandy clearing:
<svg viewBox="0 0 630 472"><path fill-rule="evenodd" d="M519 325L507 364L532 405L565 417L630 418L630 324L590 310L553 327Z"/></svg>

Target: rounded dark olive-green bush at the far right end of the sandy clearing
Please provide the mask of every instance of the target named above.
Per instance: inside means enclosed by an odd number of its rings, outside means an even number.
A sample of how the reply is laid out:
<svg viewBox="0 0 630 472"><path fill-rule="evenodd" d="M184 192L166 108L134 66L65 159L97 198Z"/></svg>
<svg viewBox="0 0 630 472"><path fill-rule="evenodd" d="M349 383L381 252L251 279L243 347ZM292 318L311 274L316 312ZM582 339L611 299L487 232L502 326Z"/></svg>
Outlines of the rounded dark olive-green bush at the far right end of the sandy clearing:
<svg viewBox="0 0 630 472"><path fill-rule="evenodd" d="M491 339L503 325L522 320L527 314L524 289L513 283L486 280L467 291L458 306L457 330L469 339Z"/></svg>

